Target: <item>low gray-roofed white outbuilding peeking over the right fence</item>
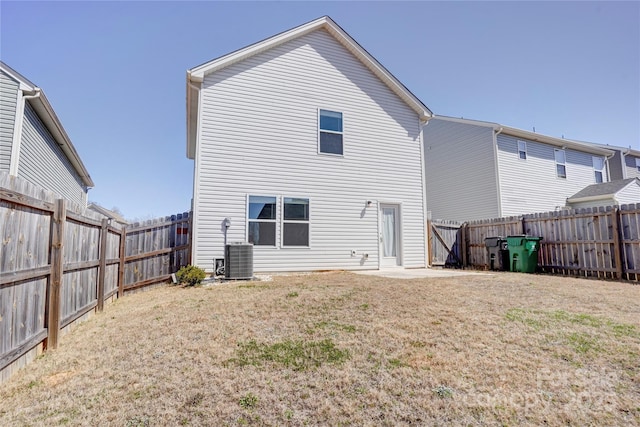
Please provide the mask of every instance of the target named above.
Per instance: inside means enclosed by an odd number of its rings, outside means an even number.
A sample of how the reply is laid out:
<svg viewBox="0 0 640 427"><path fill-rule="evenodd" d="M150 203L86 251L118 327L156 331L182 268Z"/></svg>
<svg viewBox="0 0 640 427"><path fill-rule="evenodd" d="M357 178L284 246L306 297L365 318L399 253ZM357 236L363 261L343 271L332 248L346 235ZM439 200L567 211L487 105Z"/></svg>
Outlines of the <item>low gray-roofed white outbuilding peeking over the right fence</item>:
<svg viewBox="0 0 640 427"><path fill-rule="evenodd" d="M592 208L640 203L640 178L592 184L567 199L567 206Z"/></svg>

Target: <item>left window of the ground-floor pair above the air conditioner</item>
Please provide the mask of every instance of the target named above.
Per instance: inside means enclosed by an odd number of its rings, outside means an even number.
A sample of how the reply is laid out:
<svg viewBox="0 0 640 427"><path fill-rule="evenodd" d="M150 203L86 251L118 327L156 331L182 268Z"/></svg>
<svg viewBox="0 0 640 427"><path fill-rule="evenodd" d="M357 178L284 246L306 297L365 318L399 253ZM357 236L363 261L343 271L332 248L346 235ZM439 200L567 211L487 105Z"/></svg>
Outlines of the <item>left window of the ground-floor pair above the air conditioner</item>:
<svg viewBox="0 0 640 427"><path fill-rule="evenodd" d="M275 246L276 198L249 196L247 223L249 243L259 246Z"/></svg>

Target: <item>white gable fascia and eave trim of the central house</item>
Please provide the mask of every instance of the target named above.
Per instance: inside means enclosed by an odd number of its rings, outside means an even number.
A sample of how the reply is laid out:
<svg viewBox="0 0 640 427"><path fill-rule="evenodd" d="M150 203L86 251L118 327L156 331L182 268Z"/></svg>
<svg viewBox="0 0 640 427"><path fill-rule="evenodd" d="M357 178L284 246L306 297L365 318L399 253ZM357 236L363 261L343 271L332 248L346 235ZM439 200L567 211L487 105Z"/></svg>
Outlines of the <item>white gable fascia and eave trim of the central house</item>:
<svg viewBox="0 0 640 427"><path fill-rule="evenodd" d="M427 121L433 116L431 110L429 110L422 101L411 93L402 83L400 83L398 79L396 79L386 68L384 68L373 56L371 56L349 34L347 34L346 31L340 28L340 26L328 16L323 16L289 31L277 34L266 40L254 43L218 59L214 59L192 68L187 72L187 80L193 83L200 83L204 80L204 76L207 74L218 71L224 67L228 67L238 61L244 60L321 28L327 30L329 34L331 34L340 44L354 54L356 58L358 58L360 62L362 62L369 70L371 70L371 72L384 82L389 89L391 89L409 107L411 107L411 109L419 115L420 120Z"/></svg>

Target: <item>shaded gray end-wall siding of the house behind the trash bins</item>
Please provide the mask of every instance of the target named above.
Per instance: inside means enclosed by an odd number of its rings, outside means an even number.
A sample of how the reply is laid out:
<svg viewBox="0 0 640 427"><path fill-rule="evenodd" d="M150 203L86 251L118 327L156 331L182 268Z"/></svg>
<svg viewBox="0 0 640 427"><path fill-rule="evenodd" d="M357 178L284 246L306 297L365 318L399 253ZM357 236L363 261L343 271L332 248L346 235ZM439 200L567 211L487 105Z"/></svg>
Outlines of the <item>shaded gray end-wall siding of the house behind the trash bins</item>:
<svg viewBox="0 0 640 427"><path fill-rule="evenodd" d="M427 211L434 219L500 216L493 129L431 119L424 128Z"/></svg>

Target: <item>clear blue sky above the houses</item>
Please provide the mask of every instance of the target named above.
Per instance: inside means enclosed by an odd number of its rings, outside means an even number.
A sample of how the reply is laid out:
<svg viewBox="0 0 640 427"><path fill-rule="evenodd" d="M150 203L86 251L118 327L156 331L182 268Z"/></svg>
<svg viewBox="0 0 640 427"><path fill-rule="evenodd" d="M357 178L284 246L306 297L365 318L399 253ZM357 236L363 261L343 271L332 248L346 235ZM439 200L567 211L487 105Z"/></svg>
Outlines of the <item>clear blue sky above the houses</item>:
<svg viewBox="0 0 640 427"><path fill-rule="evenodd" d="M0 1L1 58L40 86L127 218L189 210L186 70L331 16L432 111L640 149L639 2Z"/></svg>

